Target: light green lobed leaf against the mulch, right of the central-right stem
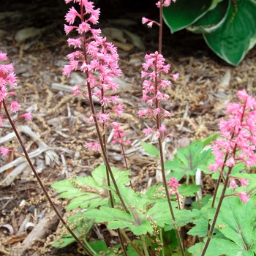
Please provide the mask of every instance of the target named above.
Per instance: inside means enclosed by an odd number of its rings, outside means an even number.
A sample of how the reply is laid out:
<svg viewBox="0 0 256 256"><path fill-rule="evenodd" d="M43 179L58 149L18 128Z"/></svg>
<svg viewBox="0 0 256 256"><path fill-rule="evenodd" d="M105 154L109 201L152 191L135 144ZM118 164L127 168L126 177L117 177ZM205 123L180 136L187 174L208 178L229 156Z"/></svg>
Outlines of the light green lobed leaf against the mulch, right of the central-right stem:
<svg viewBox="0 0 256 256"><path fill-rule="evenodd" d="M208 167L211 157L211 149L203 150L203 143L191 143L179 149L172 161L165 162L165 170L172 170L167 178L175 177L180 181L183 176L195 176L197 168L204 170Z"/></svg>

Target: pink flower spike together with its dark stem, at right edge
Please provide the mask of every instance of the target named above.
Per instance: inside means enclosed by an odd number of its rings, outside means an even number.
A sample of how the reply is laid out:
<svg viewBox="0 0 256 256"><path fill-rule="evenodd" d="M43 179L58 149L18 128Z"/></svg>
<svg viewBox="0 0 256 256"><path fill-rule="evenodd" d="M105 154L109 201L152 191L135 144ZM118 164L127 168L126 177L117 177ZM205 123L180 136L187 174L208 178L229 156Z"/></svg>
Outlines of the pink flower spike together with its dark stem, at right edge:
<svg viewBox="0 0 256 256"><path fill-rule="evenodd" d="M213 153L215 161L214 164L208 167L211 171L219 172L217 187L211 203L212 208L215 207L219 184L221 181L224 181L224 184L211 227L208 226L208 238L202 255L206 254L211 237L213 236L214 227L224 198L234 195L240 197L242 203L246 203L249 200L249 195L246 194L246 191L233 192L230 195L226 194L228 185L232 190L237 189L236 179L244 189L249 184L248 180L239 177L239 173L234 172L233 168L244 163L246 169L249 170L250 167L256 164L256 100L248 95L246 90L238 91L237 96L241 103L229 103L226 107L226 113L229 115L229 118L219 121L222 138L217 139L214 143Z"/></svg>

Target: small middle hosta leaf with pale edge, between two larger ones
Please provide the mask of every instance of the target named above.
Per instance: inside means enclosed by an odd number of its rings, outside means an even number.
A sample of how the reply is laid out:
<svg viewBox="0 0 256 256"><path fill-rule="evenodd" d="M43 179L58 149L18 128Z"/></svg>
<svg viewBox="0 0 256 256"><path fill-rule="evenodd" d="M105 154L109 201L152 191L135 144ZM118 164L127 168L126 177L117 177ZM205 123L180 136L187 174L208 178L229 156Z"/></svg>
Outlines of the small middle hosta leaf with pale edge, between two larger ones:
<svg viewBox="0 0 256 256"><path fill-rule="evenodd" d="M217 30L225 22L230 4L230 0L221 1L187 29L194 33L211 33Z"/></svg>

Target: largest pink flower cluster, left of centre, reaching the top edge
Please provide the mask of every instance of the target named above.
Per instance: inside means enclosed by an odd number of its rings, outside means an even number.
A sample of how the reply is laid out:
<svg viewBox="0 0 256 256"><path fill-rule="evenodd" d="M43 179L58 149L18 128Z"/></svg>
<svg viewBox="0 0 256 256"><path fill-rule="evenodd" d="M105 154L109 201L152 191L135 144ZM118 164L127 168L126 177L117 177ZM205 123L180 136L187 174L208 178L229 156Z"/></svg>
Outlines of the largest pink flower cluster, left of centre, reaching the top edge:
<svg viewBox="0 0 256 256"><path fill-rule="evenodd" d="M71 0L66 0L68 4ZM116 105L118 96L109 96L105 92L108 90L116 91L118 84L113 81L115 76L120 77L121 70L118 67L118 53L116 47L106 42L105 37L101 37L100 29L92 29L91 25L97 24L99 19L99 9L94 9L94 4L87 0L75 0L80 4L81 13L74 7L70 8L65 16L69 25L64 26L66 34L72 30L78 31L78 38L67 39L69 47L78 48L73 53L67 55L69 64L63 68L63 74L69 77L72 70L80 70L86 74L86 83L73 87L74 95L82 94L86 99L97 97L102 106L110 103ZM75 19L78 19L78 26L74 26ZM123 107L118 104L111 109L111 112L121 116ZM108 113L94 114L99 122L108 121ZM94 120L91 116L90 121Z"/></svg>

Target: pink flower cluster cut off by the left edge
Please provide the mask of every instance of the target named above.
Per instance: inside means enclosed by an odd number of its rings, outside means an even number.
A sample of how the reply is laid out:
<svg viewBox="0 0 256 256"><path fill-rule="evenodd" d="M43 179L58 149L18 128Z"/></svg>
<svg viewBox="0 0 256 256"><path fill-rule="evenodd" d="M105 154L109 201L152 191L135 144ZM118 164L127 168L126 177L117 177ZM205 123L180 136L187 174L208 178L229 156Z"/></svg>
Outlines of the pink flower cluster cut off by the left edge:
<svg viewBox="0 0 256 256"><path fill-rule="evenodd" d="M6 61L6 60L7 60L7 53L3 53L0 50L0 61ZM2 119L4 115L1 114L1 108L2 108L3 102L6 105L10 105L10 111L12 113L18 112L21 107L17 101L10 101L10 102L5 101L8 96L15 95L13 91L8 91L8 86L10 86L11 88L15 88L17 86L17 78L13 71L14 71L14 67L12 63L0 64L0 127L4 124ZM29 121L31 121L31 118L32 118L31 112L18 116L18 118L16 118L16 120L13 122L15 123L19 118L26 118Z"/></svg>

